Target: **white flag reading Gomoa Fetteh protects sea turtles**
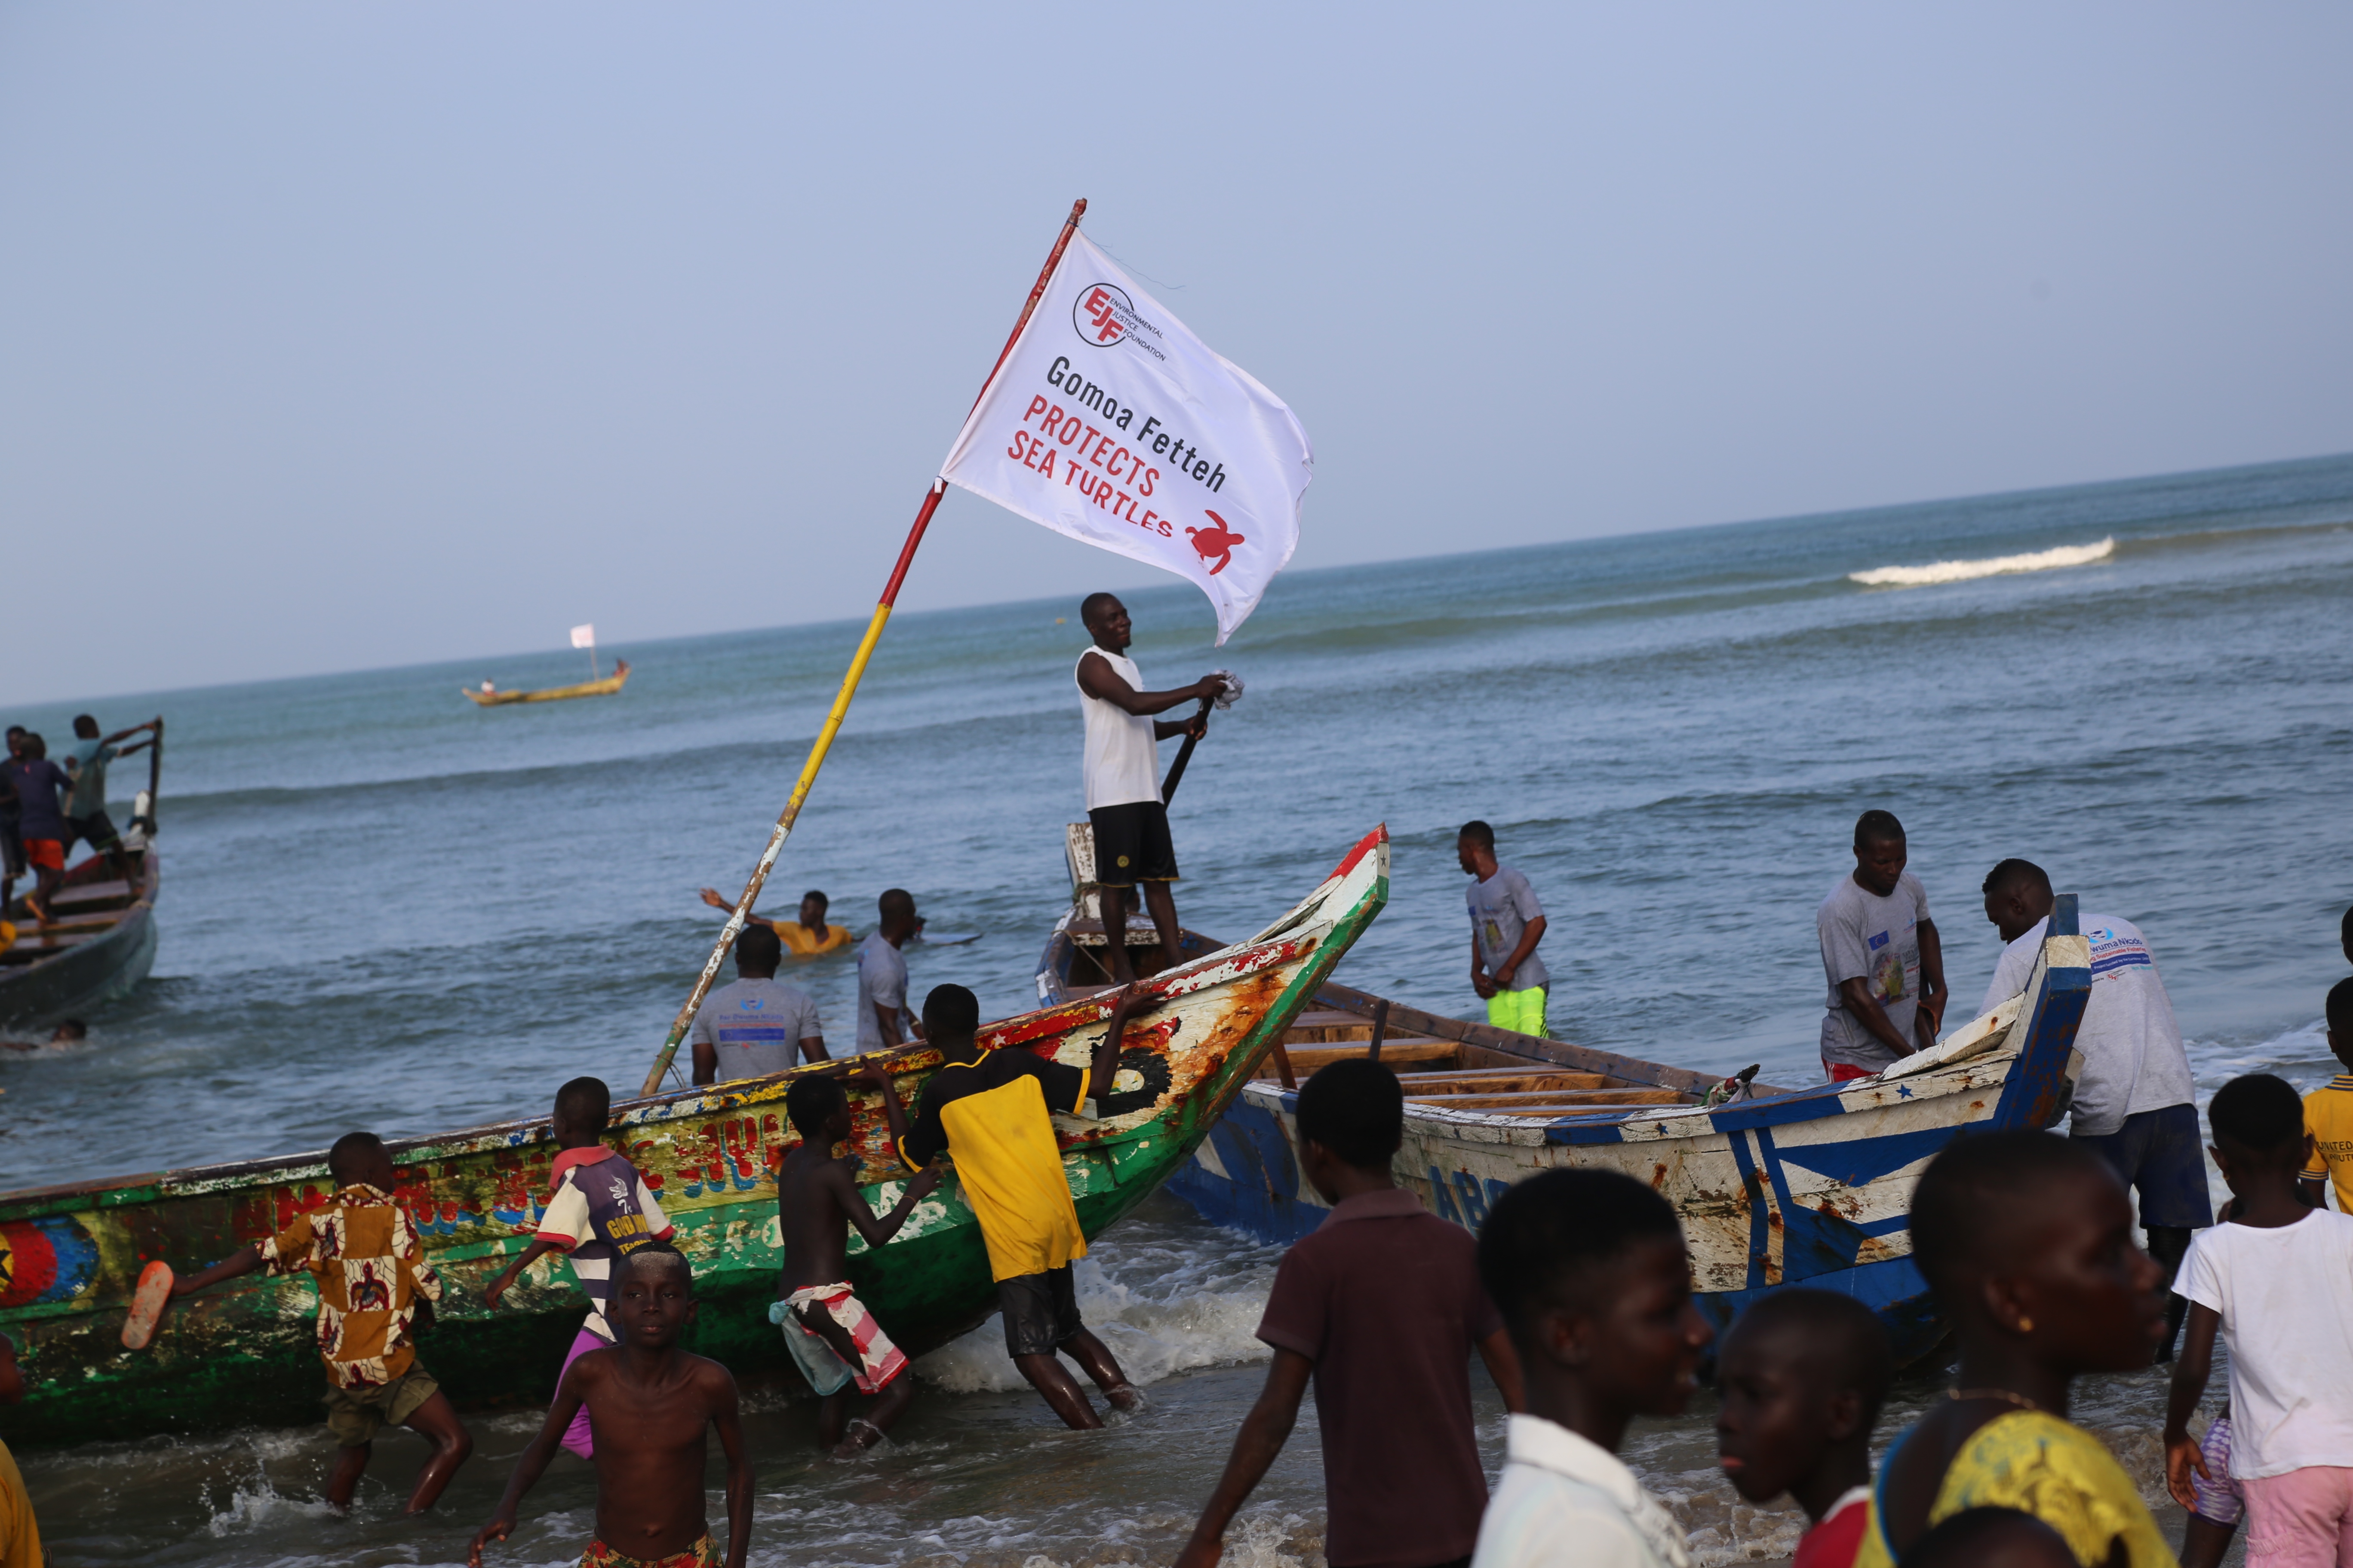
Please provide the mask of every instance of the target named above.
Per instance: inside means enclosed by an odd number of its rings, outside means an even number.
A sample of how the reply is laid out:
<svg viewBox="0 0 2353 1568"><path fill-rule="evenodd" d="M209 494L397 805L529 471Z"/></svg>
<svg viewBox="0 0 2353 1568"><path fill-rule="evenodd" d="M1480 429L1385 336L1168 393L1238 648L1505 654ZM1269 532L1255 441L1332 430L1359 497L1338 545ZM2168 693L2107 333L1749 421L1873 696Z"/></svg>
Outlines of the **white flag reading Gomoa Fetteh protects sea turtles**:
<svg viewBox="0 0 2353 1568"><path fill-rule="evenodd" d="M1226 642L1299 545L1315 454L1280 397L1073 235L939 473L1191 578Z"/></svg>

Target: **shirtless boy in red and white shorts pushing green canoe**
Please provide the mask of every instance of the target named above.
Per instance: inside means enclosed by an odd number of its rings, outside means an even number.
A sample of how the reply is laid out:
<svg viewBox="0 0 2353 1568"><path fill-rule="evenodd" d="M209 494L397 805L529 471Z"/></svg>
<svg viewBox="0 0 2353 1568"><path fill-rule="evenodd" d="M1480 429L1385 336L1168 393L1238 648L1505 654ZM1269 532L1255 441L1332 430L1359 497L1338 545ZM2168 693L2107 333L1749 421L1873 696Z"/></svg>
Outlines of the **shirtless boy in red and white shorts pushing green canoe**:
<svg viewBox="0 0 2353 1568"><path fill-rule="evenodd" d="M767 1316L784 1331L809 1387L824 1399L816 1408L816 1446L847 1460L882 1441L915 1396L906 1375L906 1354L889 1342L882 1326L849 1288L847 1227L856 1225L866 1246L882 1246L899 1234L934 1187L939 1166L929 1164L908 1180L899 1206L880 1220L859 1192L856 1154L835 1159L833 1147L849 1138L849 1095L840 1079L802 1079L784 1095L800 1145L776 1171L776 1225L784 1229L784 1272L776 1279L776 1305ZM859 1394L880 1394L875 1406L847 1422L849 1382Z"/></svg>

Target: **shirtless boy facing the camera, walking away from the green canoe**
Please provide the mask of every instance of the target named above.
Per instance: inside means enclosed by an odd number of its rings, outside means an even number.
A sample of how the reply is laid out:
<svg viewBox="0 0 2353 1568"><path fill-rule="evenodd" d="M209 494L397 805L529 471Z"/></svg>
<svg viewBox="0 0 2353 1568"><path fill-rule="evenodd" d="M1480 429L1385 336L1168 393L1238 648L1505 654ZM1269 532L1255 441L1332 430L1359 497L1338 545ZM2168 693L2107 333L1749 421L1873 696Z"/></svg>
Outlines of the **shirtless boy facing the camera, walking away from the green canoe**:
<svg viewBox="0 0 2353 1568"><path fill-rule="evenodd" d="M499 1514L466 1549L515 1530L522 1493L546 1474L572 1415L595 1425L595 1540L581 1568L744 1568L751 1552L751 1458L736 1420L734 1378L718 1361L678 1349L694 1321L694 1272L668 1246L640 1246L621 1260L612 1305L621 1342L593 1349L565 1373L539 1436L515 1460ZM711 1542L704 1462L711 1427L727 1453L727 1554Z"/></svg>

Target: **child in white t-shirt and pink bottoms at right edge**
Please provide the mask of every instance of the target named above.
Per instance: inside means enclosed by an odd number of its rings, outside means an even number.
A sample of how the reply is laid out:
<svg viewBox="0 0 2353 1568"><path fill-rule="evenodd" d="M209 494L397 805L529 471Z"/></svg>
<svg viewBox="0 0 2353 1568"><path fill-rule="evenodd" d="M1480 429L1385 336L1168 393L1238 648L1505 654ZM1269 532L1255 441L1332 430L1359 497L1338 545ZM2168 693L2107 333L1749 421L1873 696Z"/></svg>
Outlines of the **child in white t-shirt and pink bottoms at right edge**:
<svg viewBox="0 0 2353 1568"><path fill-rule="evenodd" d="M2353 1561L2353 1215L2306 1208L2297 1173L2313 1140L2304 1100L2268 1072L2231 1079L2207 1107L2214 1164L2238 1194L2198 1232L2174 1288L2191 1302L2165 1410L2165 1481L2195 1507L2207 1462L2188 1420L2231 1345L2231 1479L2247 1497L2247 1556L2278 1568Z"/></svg>

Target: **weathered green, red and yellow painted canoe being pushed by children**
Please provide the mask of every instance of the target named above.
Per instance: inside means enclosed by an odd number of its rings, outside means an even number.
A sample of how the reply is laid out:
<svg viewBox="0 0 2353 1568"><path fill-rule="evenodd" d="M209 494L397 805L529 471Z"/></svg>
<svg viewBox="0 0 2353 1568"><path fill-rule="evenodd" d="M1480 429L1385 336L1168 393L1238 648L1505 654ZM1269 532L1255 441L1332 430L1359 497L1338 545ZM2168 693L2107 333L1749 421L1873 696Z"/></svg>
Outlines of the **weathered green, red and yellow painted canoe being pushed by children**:
<svg viewBox="0 0 2353 1568"><path fill-rule="evenodd" d="M1129 1025L1113 1114L1054 1119L1089 1237L1191 1159L1386 898L1388 835L1374 830L1259 936L1153 976L1148 985L1167 1006ZM1106 1011L1099 1001L1066 1001L988 1025L981 1044L1085 1063ZM781 1262L772 1171L798 1143L784 1093L798 1077L875 1060L889 1065L906 1100L939 1065L934 1051L913 1046L616 1107L612 1140L659 1192L696 1269L701 1316L689 1342L748 1382L795 1378L767 1324ZM866 1197L889 1208L904 1173L878 1095L854 1088L852 1112ZM499 1312L480 1300L482 1281L527 1246L553 1154L544 1119L393 1145L395 1197L449 1284L421 1354L461 1406L544 1401L579 1328L584 1298L558 1260L534 1265ZM148 1260L202 1267L292 1222L327 1192L325 1154L296 1154L0 1194L0 1328L33 1347L31 1392L9 1415L9 1441L315 1420L320 1368L304 1276L247 1276L184 1300L146 1352L122 1349L120 1333ZM892 1338L915 1354L995 1307L979 1227L953 1180L915 1208L889 1246L852 1239L849 1274Z"/></svg>

